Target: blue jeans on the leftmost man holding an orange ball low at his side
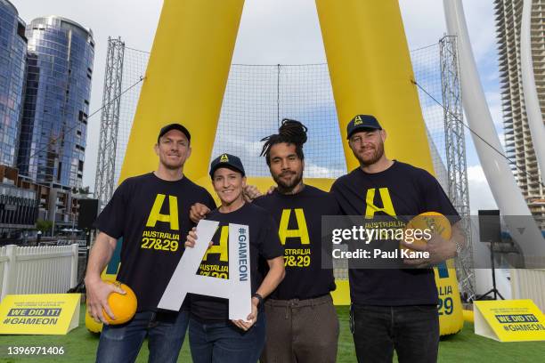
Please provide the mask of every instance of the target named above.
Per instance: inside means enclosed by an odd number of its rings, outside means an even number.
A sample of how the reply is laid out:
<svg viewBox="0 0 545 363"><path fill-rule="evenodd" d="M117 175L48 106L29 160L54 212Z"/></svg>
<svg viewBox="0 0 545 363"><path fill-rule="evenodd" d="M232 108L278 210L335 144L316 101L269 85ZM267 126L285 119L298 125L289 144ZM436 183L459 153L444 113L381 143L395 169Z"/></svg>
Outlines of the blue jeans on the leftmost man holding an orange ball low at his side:
<svg viewBox="0 0 545 363"><path fill-rule="evenodd" d="M137 312L134 318L119 326L102 327L96 352L99 363L134 362L148 335L149 362L176 362L182 349L189 313Z"/></svg>

